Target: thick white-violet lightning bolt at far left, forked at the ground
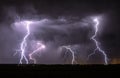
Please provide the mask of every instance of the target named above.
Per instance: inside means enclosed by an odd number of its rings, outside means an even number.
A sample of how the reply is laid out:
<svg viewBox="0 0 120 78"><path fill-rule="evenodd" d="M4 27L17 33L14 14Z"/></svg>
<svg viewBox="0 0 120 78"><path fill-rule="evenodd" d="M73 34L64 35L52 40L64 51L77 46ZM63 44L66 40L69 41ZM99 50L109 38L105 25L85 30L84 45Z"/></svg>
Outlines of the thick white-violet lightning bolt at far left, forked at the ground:
<svg viewBox="0 0 120 78"><path fill-rule="evenodd" d="M21 42L21 44L20 44L21 58L20 58L20 62L19 62L19 63L22 64L22 60L25 59L26 64L28 64L28 59L27 59L27 57L25 56L25 49L26 49L26 47L27 47L27 38L28 38L28 36L30 35L30 24L31 24L31 22L30 22L30 21L24 21L23 23L24 23L24 25L25 25L25 27L26 27L27 33L26 33L26 35L23 37L23 40L22 40L22 42Z"/></svg>

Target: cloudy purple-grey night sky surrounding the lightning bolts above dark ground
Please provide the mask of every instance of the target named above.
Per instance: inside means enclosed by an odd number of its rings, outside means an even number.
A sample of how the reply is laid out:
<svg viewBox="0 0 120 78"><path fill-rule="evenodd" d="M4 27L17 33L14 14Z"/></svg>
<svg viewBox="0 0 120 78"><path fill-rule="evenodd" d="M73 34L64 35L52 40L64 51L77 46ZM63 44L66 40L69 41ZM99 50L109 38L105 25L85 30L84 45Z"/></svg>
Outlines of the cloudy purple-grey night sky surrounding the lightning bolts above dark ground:
<svg viewBox="0 0 120 78"><path fill-rule="evenodd" d="M119 2L114 0L4 0L0 1L0 11L0 64L19 63L20 53L14 54L24 31L13 24L22 19L48 19L42 26L38 24L39 27L29 37L29 44L32 39L42 40L48 47L42 55L34 56L38 64L69 64L71 54L65 54L65 49L58 51L58 47L64 45L73 46L79 64L103 64L103 56L99 52L87 60L95 49L94 42L90 40L94 32L92 16L102 16L97 40L109 62L120 58ZM29 52L30 49L26 53Z"/></svg>

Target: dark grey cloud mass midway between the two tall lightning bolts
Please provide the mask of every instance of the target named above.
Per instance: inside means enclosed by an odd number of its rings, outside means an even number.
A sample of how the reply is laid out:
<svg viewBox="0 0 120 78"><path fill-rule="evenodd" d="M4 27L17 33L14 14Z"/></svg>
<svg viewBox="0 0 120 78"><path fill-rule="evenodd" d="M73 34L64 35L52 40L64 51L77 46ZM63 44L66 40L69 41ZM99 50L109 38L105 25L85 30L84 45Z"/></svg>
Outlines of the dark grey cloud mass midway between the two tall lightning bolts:
<svg viewBox="0 0 120 78"><path fill-rule="evenodd" d="M59 39L56 41L62 41L67 40L68 42L66 44L75 44L78 42L83 42L87 39L87 28L82 27L81 24L70 23L70 24L62 24L59 25L56 22L53 22L53 24L44 25L39 28L39 31L43 31L42 33L36 33L36 37L43 38L44 40L51 40L54 41L55 39ZM40 36L41 35L41 36ZM60 38L61 37L61 38ZM63 38L63 39L62 39ZM70 42L69 40L73 40Z"/></svg>

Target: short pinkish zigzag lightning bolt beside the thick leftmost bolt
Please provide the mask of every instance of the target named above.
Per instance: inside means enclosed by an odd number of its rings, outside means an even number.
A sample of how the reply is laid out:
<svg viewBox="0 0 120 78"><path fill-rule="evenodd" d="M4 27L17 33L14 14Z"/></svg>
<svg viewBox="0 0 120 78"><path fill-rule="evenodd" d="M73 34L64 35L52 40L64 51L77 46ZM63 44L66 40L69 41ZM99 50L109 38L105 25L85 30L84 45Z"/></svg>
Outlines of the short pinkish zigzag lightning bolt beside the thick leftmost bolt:
<svg viewBox="0 0 120 78"><path fill-rule="evenodd" d="M32 55L35 54L35 53L37 53L38 51L40 51L40 50L42 50L42 49L45 49L45 47L46 47L46 46L45 46L44 44L42 44L41 42L38 42L37 45L38 45L38 48L35 49L32 53L29 54L29 59L30 59L30 60L33 60L34 64L36 64L36 59L33 58Z"/></svg>

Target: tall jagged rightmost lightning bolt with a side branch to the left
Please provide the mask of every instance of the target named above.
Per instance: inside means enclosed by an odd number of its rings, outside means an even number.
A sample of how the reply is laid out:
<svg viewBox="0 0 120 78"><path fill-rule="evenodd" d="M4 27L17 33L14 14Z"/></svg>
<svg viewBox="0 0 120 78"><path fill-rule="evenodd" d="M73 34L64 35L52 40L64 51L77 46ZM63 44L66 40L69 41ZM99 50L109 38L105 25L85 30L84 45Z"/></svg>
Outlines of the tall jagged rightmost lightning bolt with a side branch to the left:
<svg viewBox="0 0 120 78"><path fill-rule="evenodd" d="M99 26L99 20L98 18L94 18L93 21L96 23L94 28L95 28L95 33L94 35L91 37L91 39L95 42L95 45L96 45L96 49L94 50L93 53L91 53L90 55L88 55L88 59L90 56L92 56L93 54L95 54L95 52L98 50L99 52L101 52L103 55L104 55L104 62L105 64L108 64L108 58L107 58L107 54L105 53L104 50L102 50L99 46L99 42L95 39L95 37L97 36L97 32L98 32L98 26Z"/></svg>

